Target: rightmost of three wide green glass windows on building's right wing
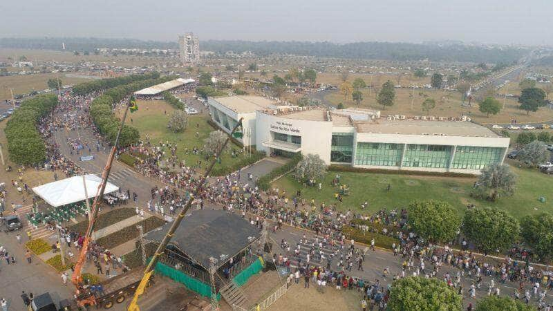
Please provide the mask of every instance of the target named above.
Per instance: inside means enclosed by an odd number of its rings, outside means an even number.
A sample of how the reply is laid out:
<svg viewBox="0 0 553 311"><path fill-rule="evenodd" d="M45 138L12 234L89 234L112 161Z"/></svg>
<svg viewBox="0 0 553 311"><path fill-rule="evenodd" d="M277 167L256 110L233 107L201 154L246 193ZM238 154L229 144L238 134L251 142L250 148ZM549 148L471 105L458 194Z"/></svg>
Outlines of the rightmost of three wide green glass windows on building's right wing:
<svg viewBox="0 0 553 311"><path fill-rule="evenodd" d="M503 160L505 148L457 146L452 169L485 169Z"/></svg>

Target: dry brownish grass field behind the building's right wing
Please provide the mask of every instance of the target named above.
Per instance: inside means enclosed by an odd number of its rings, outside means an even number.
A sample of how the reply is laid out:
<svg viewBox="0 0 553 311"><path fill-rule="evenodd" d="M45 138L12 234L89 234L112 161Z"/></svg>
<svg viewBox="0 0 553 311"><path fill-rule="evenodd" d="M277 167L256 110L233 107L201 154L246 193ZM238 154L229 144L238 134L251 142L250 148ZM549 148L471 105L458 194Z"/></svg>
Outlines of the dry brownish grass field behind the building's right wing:
<svg viewBox="0 0 553 311"><path fill-rule="evenodd" d="M415 100L411 106L411 98L413 90L408 88L396 88L395 89L395 103L391 107L382 109L376 101L375 90L370 91L364 89L363 101L357 105L348 96L344 99L344 95L338 91L326 95L326 100L332 102L332 104L343 103L344 106L358 106L361 108L378 109L382 111L383 115L426 115L421 109L421 104L426 98L433 98L436 102L435 109L431 110L429 115L438 117L457 117L462 114L469 115L476 122L484 124L509 124L512 118L515 118L519 124L525 122L541 122L553 120L553 109L541 108L536 113L530 113L526 115L526 111L518 109L518 102L514 98L507 98L505 102L505 109L500 111L498 115L486 116L485 113L478 111L478 103L473 102L471 107L461 106L460 93L453 91L435 91L429 88L415 88ZM498 97L498 100L503 104L503 97Z"/></svg>

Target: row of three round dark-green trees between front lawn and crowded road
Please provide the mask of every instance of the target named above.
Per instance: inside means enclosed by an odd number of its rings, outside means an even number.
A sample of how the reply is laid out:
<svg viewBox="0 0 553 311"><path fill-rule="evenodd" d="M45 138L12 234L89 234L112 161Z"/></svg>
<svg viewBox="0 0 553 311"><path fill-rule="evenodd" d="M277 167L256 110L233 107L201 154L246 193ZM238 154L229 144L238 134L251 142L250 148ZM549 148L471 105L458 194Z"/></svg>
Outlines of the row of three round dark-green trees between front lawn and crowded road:
<svg viewBox="0 0 553 311"><path fill-rule="evenodd" d="M525 216L521 223L496 207L468 209L460 218L447 202L415 201L409 206L409 226L431 243L449 243L462 233L485 253L502 251L520 238L543 260L553 258L550 227L553 216L547 212Z"/></svg>

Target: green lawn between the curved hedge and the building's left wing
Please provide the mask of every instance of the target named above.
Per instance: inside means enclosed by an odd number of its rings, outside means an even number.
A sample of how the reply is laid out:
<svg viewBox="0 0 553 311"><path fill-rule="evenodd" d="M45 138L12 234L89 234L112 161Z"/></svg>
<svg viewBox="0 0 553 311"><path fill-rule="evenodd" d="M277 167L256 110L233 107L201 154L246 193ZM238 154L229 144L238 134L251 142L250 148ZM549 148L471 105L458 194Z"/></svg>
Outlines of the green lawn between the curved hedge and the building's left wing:
<svg viewBox="0 0 553 311"><path fill-rule="evenodd" d="M205 167L207 162L202 156L192 153L194 147L200 149L203 147L203 140L207 138L209 133L215 129L207 124L206 115L190 115L188 117L188 125L183 133L173 133L167 129L169 117L175 109L162 100L139 100L138 111L130 115L133 120L132 125L135 126L142 140L149 135L150 142L158 145L159 142L177 143L177 156L180 160L185 160L187 166L197 164L202 161L202 167ZM232 144L231 147L238 151L240 147ZM189 153L185 153L188 148ZM167 151L170 155L170 152ZM221 157L221 165L231 164L236 158L232 158L230 153L225 153ZM216 164L218 166L219 164Z"/></svg>

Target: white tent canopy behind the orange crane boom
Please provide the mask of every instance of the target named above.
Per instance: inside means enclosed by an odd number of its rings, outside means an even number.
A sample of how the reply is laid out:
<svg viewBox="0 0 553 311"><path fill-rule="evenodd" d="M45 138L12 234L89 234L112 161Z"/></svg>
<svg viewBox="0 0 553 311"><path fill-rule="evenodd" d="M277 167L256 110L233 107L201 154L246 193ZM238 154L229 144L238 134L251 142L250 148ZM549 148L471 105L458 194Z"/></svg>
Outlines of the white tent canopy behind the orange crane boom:
<svg viewBox="0 0 553 311"><path fill-rule="evenodd" d="M94 198L98 186L100 186L100 182L102 182L102 178L88 174L84 176L84 180L86 181L86 194L88 194L88 198ZM118 190L119 187L113 185L111 182L107 182L104 194L109 194ZM50 182L45 185L34 187L32 191L53 207L80 202L86 198L84 195L82 176L73 176Z"/></svg>

